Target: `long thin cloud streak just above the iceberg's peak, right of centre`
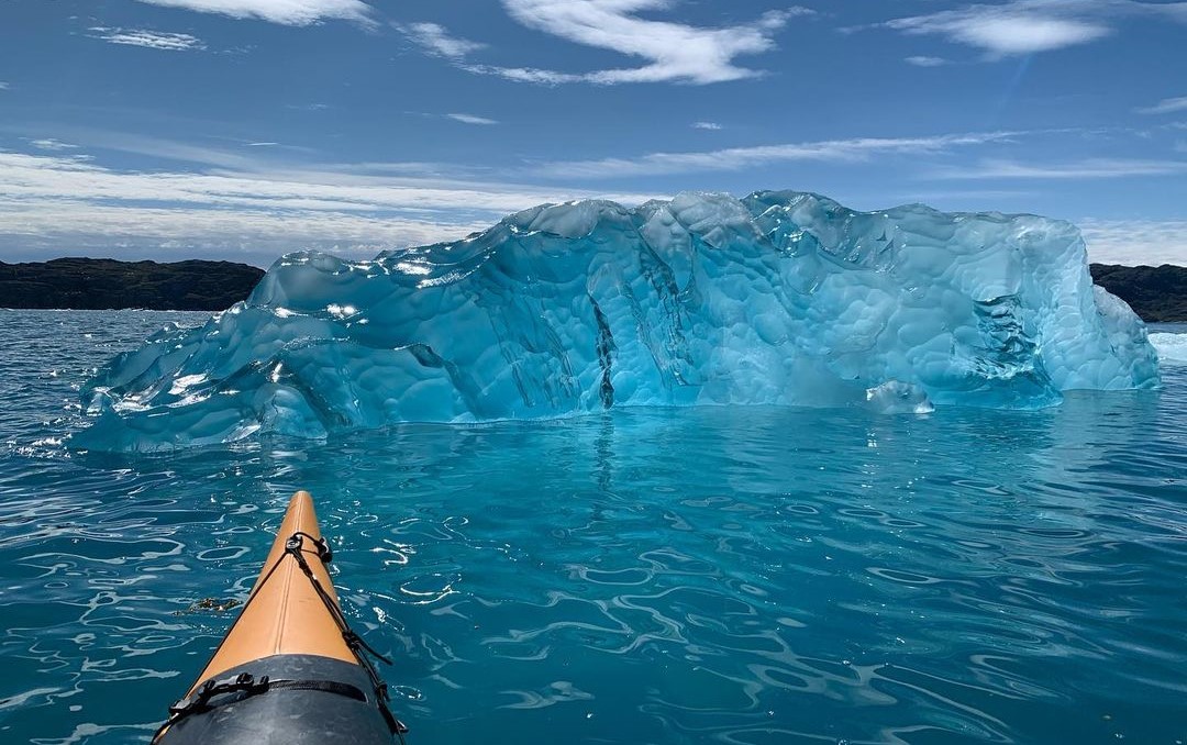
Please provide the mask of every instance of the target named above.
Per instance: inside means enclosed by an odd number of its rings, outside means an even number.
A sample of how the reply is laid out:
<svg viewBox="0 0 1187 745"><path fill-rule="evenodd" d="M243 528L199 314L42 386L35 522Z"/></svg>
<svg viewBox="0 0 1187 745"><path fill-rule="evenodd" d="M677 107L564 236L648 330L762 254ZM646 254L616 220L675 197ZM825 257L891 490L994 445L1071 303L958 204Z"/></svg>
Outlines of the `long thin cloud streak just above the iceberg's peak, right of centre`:
<svg viewBox="0 0 1187 745"><path fill-rule="evenodd" d="M858 163L875 155L938 154L957 147L1002 142L1011 132L946 134L926 138L857 138L756 147L730 147L709 152L650 153L637 158L607 158L550 163L533 170L544 177L614 178L661 176L704 171L740 171L772 163L823 161Z"/></svg>

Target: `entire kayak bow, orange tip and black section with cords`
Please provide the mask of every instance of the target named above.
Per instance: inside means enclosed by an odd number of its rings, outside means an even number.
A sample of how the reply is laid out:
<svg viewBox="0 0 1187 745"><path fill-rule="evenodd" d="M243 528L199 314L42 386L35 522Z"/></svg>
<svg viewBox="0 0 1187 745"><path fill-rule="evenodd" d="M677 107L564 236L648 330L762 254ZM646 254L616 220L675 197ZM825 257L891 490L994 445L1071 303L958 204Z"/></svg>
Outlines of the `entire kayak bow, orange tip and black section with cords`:
<svg viewBox="0 0 1187 745"><path fill-rule="evenodd" d="M342 616L330 556L298 491L239 618L153 743L372 745L406 732Z"/></svg>

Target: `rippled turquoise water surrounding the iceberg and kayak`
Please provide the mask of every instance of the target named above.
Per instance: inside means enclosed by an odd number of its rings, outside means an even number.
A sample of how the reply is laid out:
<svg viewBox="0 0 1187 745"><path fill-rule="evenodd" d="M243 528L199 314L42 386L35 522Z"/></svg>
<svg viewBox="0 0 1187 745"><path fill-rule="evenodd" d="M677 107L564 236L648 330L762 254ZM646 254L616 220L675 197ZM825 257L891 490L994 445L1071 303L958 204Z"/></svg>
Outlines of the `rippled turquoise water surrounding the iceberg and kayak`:
<svg viewBox="0 0 1187 745"><path fill-rule="evenodd" d="M1187 741L1187 367L1040 412L70 452L94 367L201 318L0 311L2 743L146 740L298 488L413 744Z"/></svg>

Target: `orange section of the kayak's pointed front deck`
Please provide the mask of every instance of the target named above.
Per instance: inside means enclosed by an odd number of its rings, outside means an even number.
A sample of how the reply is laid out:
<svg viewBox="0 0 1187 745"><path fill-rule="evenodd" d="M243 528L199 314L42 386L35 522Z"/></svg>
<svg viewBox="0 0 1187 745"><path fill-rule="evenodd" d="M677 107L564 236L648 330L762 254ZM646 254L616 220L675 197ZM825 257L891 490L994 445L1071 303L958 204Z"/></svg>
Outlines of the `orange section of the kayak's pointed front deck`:
<svg viewBox="0 0 1187 745"><path fill-rule="evenodd" d="M272 655L318 655L357 662L300 566L291 558L284 560L285 543L298 533L305 533L313 540L322 537L313 498L307 491L298 491L288 502L285 520L242 613L195 687L231 668ZM338 596L313 540L304 539L301 555L337 605Z"/></svg>

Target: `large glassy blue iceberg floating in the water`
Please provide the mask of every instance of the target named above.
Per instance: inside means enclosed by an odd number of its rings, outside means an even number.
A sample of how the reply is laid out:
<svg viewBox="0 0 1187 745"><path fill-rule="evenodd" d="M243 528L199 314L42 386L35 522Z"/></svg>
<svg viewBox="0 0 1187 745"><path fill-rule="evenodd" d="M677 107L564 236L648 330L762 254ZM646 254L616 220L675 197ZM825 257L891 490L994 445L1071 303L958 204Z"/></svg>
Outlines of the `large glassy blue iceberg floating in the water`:
<svg viewBox="0 0 1187 745"><path fill-rule="evenodd" d="M1145 326L1092 284L1069 223L681 193L541 205L370 261L290 254L245 303L100 370L76 444L623 406L1037 408L1157 384Z"/></svg>

